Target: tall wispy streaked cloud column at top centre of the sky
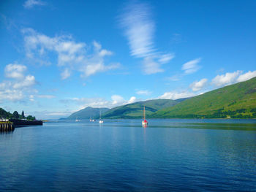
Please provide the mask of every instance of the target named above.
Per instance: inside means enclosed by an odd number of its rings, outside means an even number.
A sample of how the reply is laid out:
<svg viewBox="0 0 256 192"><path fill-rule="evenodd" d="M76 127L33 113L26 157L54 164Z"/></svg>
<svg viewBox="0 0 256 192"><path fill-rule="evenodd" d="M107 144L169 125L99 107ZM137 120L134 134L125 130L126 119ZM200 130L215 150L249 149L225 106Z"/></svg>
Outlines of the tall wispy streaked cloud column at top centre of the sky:
<svg viewBox="0 0 256 192"><path fill-rule="evenodd" d="M143 72L164 72L162 64L174 58L173 53L159 53L154 47L155 24L148 4L128 4L121 15L120 23L128 39L131 55L143 58Z"/></svg>

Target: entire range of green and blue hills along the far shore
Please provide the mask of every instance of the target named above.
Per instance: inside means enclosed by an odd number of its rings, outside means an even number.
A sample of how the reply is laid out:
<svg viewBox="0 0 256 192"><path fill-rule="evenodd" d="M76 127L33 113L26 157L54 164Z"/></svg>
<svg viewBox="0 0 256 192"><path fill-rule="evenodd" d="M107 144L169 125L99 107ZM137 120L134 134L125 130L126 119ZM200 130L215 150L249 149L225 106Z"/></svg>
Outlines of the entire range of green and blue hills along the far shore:
<svg viewBox="0 0 256 192"><path fill-rule="evenodd" d="M153 99L108 108L86 107L66 119L142 118L256 118L256 77L184 99Z"/></svg>

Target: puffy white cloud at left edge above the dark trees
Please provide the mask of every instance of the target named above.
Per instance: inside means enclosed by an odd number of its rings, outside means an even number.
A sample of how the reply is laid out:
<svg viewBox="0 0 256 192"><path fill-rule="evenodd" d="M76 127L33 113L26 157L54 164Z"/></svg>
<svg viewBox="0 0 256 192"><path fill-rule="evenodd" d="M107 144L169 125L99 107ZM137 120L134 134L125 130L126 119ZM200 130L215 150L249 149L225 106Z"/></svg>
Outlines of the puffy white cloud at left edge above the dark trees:
<svg viewBox="0 0 256 192"><path fill-rule="evenodd" d="M29 98L29 93L35 93L33 86L36 84L35 77L26 75L26 66L20 64L8 64L4 68L7 80L0 82L0 102L23 101Z"/></svg>

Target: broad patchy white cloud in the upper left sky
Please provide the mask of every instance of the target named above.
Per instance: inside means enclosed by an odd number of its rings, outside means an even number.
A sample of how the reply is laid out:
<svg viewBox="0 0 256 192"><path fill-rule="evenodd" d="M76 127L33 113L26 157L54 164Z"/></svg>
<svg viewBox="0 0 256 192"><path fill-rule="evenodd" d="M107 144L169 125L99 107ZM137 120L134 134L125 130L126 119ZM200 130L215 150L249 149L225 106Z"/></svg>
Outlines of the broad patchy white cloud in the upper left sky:
<svg viewBox="0 0 256 192"><path fill-rule="evenodd" d="M118 63L105 64L105 57L113 53L102 49L102 45L96 41L90 47L83 42L75 42L71 36L48 37L31 28L23 29L23 34L27 58L39 64L49 64L48 53L58 55L62 80L70 77L72 71L80 72L81 77L89 77L120 66Z"/></svg>

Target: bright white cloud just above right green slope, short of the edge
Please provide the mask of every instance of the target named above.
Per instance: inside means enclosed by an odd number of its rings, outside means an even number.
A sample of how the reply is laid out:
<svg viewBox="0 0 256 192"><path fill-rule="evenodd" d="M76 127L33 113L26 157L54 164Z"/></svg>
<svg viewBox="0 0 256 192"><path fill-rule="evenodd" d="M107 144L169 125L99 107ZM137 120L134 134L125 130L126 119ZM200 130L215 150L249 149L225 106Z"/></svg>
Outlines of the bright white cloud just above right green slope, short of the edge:
<svg viewBox="0 0 256 192"><path fill-rule="evenodd" d="M241 71L236 71L233 73L226 73L221 75L218 74L216 77L214 77L211 83L217 87L230 85L237 82L238 76L241 73L242 73Z"/></svg>

